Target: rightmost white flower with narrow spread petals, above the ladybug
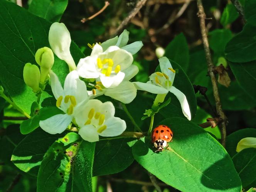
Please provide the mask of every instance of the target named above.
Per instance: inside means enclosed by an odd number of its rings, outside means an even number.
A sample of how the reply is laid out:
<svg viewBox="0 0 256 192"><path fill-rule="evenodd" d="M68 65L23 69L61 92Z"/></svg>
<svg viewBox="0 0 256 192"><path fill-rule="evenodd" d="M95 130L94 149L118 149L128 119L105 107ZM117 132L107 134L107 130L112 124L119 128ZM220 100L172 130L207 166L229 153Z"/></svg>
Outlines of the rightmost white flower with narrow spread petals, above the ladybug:
<svg viewBox="0 0 256 192"><path fill-rule="evenodd" d="M167 57L159 59L161 72L155 72L150 75L150 81L147 83L134 82L138 90L148 91L154 94L167 94L169 91L173 93L180 102L184 116L191 120L189 103L186 96L173 86L175 70Z"/></svg>

